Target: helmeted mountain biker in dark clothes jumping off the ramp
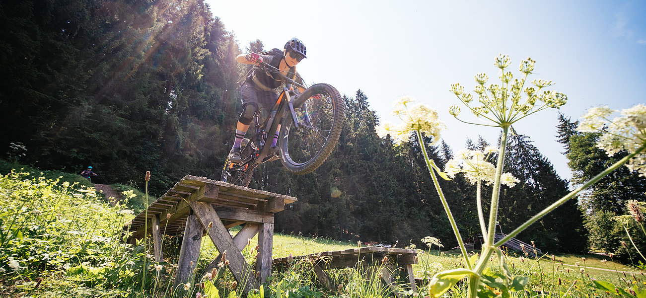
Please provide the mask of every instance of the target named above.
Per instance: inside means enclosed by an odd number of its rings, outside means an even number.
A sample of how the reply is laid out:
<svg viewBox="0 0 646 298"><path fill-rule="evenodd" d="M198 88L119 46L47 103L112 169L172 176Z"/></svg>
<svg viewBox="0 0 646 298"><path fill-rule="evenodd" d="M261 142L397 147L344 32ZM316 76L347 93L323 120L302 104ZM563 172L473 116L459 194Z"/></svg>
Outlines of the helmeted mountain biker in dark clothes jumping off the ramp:
<svg viewBox="0 0 646 298"><path fill-rule="evenodd" d="M251 52L248 54L240 54L236 57L236 61L242 64L256 64L260 62L267 63L276 69L280 70L282 74L292 80L302 83L302 79L296 71L296 65L306 56L306 47L300 39L294 37L285 43L283 50L274 48L268 52L261 52L260 54ZM240 87L240 94L242 95L242 113L236 125L236 136L233 142L233 148L229 160L234 163L242 162L240 158L240 144L242 139L249 129L253 115L260 109L259 105L270 111L278 100L278 87L282 84L282 79L278 76L273 76L264 70L254 67L246 76L244 83ZM300 92L304 89L298 88ZM275 131L273 140L271 142L271 149L275 150L276 142L278 141L278 130Z"/></svg>

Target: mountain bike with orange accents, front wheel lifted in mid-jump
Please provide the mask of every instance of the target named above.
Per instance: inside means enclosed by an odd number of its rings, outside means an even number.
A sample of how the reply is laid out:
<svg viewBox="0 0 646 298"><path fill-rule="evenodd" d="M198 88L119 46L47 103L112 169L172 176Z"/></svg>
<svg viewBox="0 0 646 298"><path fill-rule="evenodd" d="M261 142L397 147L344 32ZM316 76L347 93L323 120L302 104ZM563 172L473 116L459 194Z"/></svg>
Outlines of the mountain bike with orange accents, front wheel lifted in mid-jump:
<svg viewBox="0 0 646 298"><path fill-rule="evenodd" d="M317 169L328 158L339 140L344 122L345 105L339 91L326 83L307 88L287 78L267 63L256 67L278 75L283 83L282 92L271 111L261 121L263 109L253 116L255 136L245 138L240 146L242 162L230 161L231 152L224 162L222 181L249 186L258 165L280 159L287 171L305 175ZM297 94L294 86L306 89ZM278 151L273 152L271 140L280 125Z"/></svg>

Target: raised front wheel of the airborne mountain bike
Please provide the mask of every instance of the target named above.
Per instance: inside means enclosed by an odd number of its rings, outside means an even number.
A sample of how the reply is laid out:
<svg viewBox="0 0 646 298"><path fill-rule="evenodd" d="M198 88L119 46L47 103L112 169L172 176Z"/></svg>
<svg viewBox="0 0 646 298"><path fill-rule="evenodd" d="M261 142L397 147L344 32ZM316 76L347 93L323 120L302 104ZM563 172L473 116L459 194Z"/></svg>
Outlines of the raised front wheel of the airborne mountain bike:
<svg viewBox="0 0 646 298"><path fill-rule="evenodd" d="M280 161L291 173L304 175L328 158L339 140L345 117L339 91L328 84L315 84L294 102L299 127L289 111L280 131Z"/></svg>

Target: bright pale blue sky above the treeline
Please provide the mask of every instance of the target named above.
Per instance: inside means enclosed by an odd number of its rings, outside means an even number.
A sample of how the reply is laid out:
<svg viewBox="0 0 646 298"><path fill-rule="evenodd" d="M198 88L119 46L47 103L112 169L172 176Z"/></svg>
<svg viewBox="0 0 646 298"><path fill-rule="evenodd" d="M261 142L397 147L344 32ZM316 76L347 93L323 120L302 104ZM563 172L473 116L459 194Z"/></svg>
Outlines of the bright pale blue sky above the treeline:
<svg viewBox="0 0 646 298"><path fill-rule="evenodd" d="M568 96L560 111L573 119L598 105L646 102L646 0L206 2L242 48L255 39L266 48L304 41L308 58L297 68L306 82L329 83L351 97L362 90L382 121L396 121L391 103L401 96L434 107L453 151L466 138L497 140L499 130L448 114L457 104L448 90L452 83L472 90L479 72L493 81L498 54L510 56L514 74L522 59L535 59L530 78L556 82L551 89ZM557 123L550 109L514 127L570 178Z"/></svg>

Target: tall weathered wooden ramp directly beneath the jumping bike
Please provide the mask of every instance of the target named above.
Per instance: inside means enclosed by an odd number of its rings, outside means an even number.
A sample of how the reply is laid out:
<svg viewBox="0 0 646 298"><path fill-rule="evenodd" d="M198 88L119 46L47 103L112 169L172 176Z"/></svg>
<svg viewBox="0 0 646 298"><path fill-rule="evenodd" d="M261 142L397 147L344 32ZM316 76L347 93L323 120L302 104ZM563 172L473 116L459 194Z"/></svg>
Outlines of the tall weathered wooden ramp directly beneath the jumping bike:
<svg viewBox="0 0 646 298"><path fill-rule="evenodd" d="M229 270L238 284L244 285L246 293L251 288L258 288L271 274L274 214L296 200L287 195L187 175L152 202L148 217L142 212L123 229L131 232L129 242L152 234L156 262L163 260L161 233L183 233L173 288L189 281L198 263L202 237L208 235L218 251L226 252ZM227 229L240 224L245 225L232 238ZM259 248L256 273L253 273L241 251L256 233ZM218 255L207 270L216 266L220 259L222 255Z"/></svg>

